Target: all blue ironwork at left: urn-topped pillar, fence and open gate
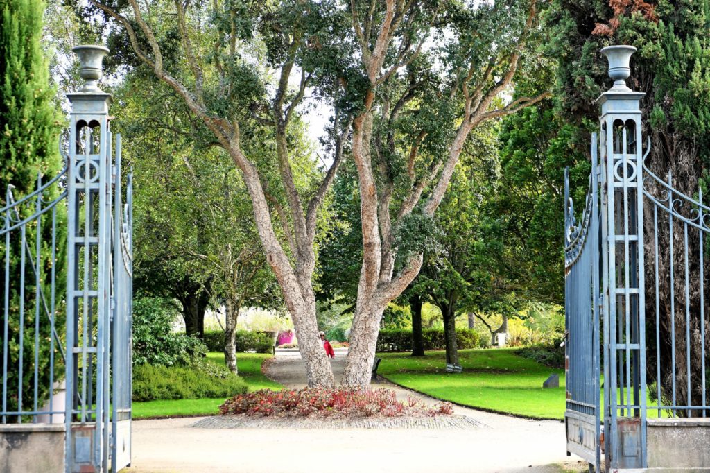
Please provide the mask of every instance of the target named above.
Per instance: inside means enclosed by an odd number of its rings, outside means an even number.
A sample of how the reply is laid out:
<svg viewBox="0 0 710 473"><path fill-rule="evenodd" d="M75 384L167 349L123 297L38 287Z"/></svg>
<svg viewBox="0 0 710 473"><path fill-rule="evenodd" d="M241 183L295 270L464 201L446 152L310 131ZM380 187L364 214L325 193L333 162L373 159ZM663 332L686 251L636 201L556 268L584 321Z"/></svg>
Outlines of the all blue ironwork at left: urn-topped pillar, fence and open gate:
<svg viewBox="0 0 710 473"><path fill-rule="evenodd" d="M67 94L65 169L51 180L39 175L36 190L20 200L10 187L0 209L0 419L64 423L67 473L116 472L131 462L132 185L128 175L121 186L111 96L97 87L107 51L75 48L87 82ZM49 337L40 333L46 327ZM46 348L48 367L40 364ZM58 406L62 388L65 405Z"/></svg>

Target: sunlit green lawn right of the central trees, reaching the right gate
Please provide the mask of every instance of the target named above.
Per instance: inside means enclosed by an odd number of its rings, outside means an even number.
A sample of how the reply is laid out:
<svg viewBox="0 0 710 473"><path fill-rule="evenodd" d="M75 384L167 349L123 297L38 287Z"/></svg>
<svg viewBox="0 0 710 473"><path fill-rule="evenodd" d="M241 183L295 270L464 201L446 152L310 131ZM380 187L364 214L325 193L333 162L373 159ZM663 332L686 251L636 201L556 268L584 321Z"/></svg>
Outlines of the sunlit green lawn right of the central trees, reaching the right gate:
<svg viewBox="0 0 710 473"><path fill-rule="evenodd" d="M518 357L514 349L460 350L461 374L444 371L443 351L421 358L408 353L378 357L378 374L435 398L530 418L564 418L564 370ZM543 389L552 373L559 374L559 388Z"/></svg>

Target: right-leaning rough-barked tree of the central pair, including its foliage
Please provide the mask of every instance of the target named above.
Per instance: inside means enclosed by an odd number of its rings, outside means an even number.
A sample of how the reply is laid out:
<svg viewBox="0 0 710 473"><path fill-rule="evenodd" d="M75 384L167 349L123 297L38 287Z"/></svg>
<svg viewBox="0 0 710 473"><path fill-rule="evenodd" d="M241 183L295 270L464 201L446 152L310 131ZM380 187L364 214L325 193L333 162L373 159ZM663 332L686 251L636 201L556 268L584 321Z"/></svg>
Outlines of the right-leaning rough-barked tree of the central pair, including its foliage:
<svg viewBox="0 0 710 473"><path fill-rule="evenodd" d="M427 234L471 131L547 97L501 102L523 55L535 61L537 16L535 1L351 2L366 78L352 138L363 262L344 384L369 384L383 310L422 266L424 248L401 251L397 237ZM395 125L410 114L420 121L396 153Z"/></svg>

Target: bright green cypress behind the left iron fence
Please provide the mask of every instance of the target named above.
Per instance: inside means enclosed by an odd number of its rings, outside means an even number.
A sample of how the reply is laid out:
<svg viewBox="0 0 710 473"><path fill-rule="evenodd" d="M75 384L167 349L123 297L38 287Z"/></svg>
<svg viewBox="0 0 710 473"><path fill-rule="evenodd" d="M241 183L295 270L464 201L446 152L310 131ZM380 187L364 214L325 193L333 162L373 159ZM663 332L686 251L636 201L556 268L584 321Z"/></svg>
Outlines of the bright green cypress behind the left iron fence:
<svg viewBox="0 0 710 473"><path fill-rule="evenodd" d="M50 87L48 60L41 47L44 4L36 0L0 0L0 207L9 204L6 191L13 186L12 197L20 200L36 189L38 174L43 182L53 178L62 168L58 150L58 134L62 125L55 109L55 90ZM57 184L43 192L43 200L50 202L59 196ZM0 228L8 228L8 217L23 219L35 212L36 200L23 205L7 207L0 215ZM17 213L15 213L17 212ZM52 259L52 219L50 211L41 217L40 251L36 251L38 222L25 225L26 245L22 244L22 230L10 232L9 248L5 234L0 238L0 366L2 379L6 379L8 411L18 409L22 398L23 411L42 407L50 389L50 317L43 308L40 294L50 305L50 271L55 266L56 300L62 300L64 268L65 205L55 207L57 234L55 235L55 260ZM24 246L24 247L23 247ZM25 259L24 267L21 263ZM40 290L35 287L35 270L31 261L38 262ZM9 291L5 290L5 265L9 264ZM21 300L21 273L24 272L24 297ZM5 298L9 310L5 310ZM39 305L39 317L35 315ZM21 311L21 305L24 310ZM64 332L62 310L56 303L56 332ZM23 337L20 339L20 325ZM4 330L8 337L5 341ZM4 344L7 343L5 347ZM22 349L20 348L22 345ZM56 381L62 375L62 360L58 351L60 341L54 340ZM38 356L35 348L38 347ZM7 364L4 366L4 352ZM22 361L20 361L22 360ZM19 379L20 368L22 379ZM36 376L35 376L36 372ZM35 384L37 387L35 388ZM36 400L36 401L35 401ZM18 418L8 418L16 421Z"/></svg>

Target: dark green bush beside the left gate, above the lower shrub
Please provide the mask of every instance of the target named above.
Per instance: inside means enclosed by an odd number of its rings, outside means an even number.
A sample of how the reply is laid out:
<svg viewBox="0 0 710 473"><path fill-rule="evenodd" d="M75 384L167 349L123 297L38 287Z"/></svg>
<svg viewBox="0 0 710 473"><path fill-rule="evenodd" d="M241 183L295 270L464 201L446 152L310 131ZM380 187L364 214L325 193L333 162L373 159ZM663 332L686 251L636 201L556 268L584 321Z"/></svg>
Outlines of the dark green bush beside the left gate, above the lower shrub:
<svg viewBox="0 0 710 473"><path fill-rule="evenodd" d="M195 337L174 333L179 312L175 301L140 297L133 301L133 366L185 366L207 354Z"/></svg>

